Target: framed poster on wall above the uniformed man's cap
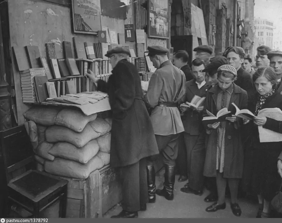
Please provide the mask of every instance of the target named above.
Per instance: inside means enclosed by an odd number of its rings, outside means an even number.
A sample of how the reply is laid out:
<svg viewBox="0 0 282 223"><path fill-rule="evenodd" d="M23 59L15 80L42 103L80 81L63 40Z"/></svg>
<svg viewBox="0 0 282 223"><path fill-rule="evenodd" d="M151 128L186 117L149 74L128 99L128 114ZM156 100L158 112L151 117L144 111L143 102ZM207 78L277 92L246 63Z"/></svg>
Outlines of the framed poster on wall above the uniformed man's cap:
<svg viewBox="0 0 282 223"><path fill-rule="evenodd" d="M148 37L168 39L168 0L148 0Z"/></svg>

